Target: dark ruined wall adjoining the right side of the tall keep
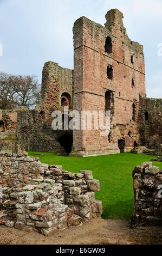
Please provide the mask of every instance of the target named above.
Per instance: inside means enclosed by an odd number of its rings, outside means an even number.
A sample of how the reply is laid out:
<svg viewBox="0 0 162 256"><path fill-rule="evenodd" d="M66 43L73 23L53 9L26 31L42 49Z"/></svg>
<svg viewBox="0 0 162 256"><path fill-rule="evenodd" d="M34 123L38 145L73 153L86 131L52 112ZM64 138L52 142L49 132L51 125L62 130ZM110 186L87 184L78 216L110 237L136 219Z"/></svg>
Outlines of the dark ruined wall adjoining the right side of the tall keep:
<svg viewBox="0 0 162 256"><path fill-rule="evenodd" d="M140 97L140 143L147 148L162 144L162 99Z"/></svg>

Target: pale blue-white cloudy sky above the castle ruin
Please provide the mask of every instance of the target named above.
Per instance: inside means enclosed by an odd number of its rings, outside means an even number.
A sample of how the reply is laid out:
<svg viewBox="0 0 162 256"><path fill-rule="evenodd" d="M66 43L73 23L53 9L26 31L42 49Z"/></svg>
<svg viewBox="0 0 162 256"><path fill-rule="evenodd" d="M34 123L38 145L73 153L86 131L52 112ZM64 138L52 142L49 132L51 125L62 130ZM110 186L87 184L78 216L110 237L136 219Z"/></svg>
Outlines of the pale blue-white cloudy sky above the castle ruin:
<svg viewBox="0 0 162 256"><path fill-rule="evenodd" d="M162 0L0 0L0 71L36 75L49 60L73 69L73 23L81 16L104 26L110 9L124 14L129 38L144 45L146 93L162 97Z"/></svg>

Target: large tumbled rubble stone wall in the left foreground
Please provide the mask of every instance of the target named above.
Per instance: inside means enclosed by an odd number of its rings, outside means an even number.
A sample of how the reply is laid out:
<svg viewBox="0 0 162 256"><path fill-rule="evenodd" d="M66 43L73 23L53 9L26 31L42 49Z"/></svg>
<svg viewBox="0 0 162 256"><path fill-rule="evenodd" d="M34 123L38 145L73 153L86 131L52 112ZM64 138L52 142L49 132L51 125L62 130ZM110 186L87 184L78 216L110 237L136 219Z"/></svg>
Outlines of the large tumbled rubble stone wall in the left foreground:
<svg viewBox="0 0 162 256"><path fill-rule="evenodd" d="M51 235L101 216L100 190L92 171L70 173L25 151L0 154L0 224Z"/></svg>

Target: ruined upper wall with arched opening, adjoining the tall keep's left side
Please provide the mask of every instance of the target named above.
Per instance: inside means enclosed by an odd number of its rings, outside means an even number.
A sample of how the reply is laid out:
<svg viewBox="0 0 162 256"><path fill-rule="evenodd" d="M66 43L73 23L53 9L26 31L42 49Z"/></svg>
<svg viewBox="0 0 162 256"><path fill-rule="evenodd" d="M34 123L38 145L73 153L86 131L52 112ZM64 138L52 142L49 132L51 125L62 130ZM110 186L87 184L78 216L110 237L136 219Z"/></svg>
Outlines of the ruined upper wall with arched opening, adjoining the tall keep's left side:
<svg viewBox="0 0 162 256"><path fill-rule="evenodd" d="M42 71L41 103L37 106L39 111L44 111L45 118L50 118L54 110L61 109L63 93L70 96L70 108L72 108L72 92L73 70L61 68L54 62L45 63Z"/></svg>

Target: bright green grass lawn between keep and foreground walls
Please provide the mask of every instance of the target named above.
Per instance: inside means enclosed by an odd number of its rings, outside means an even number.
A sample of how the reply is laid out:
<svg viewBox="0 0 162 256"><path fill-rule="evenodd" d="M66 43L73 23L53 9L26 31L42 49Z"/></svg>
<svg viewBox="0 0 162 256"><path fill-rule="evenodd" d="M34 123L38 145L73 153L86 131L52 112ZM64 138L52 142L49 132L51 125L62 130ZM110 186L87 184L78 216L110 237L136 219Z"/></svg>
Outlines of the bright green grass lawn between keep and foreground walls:
<svg viewBox="0 0 162 256"><path fill-rule="evenodd" d="M36 152L28 152L35 153ZM95 199L102 200L103 218L129 220L133 212L132 170L134 166L150 161L155 156L137 155L131 153L73 157L57 156L53 153L43 154L42 163L62 165L63 170L79 173L79 170L92 170L93 178L100 181L101 191L95 192ZM153 162L153 165L162 169L162 162Z"/></svg>

